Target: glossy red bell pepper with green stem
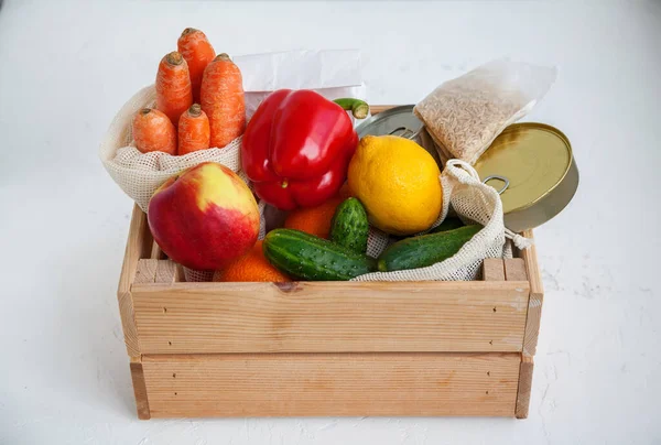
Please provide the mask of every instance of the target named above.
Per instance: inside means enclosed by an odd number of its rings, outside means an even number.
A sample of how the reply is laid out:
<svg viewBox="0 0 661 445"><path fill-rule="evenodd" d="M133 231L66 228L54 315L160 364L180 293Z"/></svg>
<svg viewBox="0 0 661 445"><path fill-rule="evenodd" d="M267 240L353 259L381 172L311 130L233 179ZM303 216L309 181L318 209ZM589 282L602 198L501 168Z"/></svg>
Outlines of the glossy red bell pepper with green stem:
<svg viewBox="0 0 661 445"><path fill-rule="evenodd" d="M362 100L333 102L306 89L269 95L241 145L241 164L254 193L283 210L317 206L334 196L358 144L345 109L360 119L369 110Z"/></svg>

